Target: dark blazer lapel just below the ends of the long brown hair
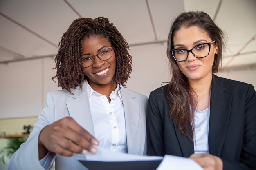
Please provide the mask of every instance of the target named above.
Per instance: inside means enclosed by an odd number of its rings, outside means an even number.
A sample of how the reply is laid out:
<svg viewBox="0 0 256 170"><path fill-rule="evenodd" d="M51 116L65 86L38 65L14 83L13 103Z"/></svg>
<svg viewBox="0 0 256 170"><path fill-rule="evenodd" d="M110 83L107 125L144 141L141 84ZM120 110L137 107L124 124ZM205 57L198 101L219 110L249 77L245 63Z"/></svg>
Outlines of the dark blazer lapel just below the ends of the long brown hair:
<svg viewBox="0 0 256 170"><path fill-rule="evenodd" d="M182 156L183 157L189 157L191 154L194 153L194 142L193 139L189 139L189 137L183 135L179 128L177 127L177 124L174 123L173 121L173 126L175 128L175 132L177 135L177 139L179 141L180 144L180 148L182 150ZM191 128L190 128L191 130Z"/></svg>

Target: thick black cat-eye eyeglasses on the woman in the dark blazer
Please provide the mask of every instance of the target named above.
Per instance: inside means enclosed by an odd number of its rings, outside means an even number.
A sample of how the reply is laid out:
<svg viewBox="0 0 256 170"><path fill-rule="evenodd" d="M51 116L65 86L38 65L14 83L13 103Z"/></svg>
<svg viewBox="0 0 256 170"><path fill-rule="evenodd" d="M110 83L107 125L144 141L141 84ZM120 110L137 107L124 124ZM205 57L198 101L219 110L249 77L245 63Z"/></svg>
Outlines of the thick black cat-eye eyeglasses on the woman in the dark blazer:
<svg viewBox="0 0 256 170"><path fill-rule="evenodd" d="M203 58L209 55L211 44L215 42L214 40L212 42L202 43L194 46L192 49L173 49L170 50L171 55L173 56L174 60L177 62L183 62L185 61L188 56L189 52L191 52L196 58Z"/></svg>

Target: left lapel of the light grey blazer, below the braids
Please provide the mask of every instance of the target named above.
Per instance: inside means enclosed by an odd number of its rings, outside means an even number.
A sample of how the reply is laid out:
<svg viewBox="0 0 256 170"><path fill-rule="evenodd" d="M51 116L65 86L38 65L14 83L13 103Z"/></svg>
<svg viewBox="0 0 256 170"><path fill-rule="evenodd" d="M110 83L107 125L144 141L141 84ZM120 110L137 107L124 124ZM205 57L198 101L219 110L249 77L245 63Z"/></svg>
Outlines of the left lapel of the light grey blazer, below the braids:
<svg viewBox="0 0 256 170"><path fill-rule="evenodd" d="M70 94L70 100L66 102L70 116L90 134L95 136L90 104L88 99L86 81L83 82L83 90L76 87Z"/></svg>

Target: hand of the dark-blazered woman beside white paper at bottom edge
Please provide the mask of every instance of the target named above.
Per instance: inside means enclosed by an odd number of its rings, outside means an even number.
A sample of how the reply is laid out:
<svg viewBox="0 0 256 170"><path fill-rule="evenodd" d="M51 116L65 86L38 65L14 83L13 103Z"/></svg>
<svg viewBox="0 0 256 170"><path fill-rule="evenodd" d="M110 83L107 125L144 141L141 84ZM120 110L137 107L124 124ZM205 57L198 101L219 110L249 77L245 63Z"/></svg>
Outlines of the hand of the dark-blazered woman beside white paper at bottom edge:
<svg viewBox="0 0 256 170"><path fill-rule="evenodd" d="M223 170L223 162L211 154L192 154L189 159L198 163L204 170Z"/></svg>

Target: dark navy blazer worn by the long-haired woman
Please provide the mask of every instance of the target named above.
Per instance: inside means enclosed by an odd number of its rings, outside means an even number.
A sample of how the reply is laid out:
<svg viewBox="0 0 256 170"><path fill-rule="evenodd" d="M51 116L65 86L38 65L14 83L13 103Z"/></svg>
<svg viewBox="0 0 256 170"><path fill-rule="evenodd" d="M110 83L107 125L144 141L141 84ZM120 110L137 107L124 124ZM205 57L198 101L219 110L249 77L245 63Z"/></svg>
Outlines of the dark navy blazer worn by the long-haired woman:
<svg viewBox="0 0 256 170"><path fill-rule="evenodd" d="M148 135L150 155L189 157L194 144L169 117L167 85L150 93ZM256 93L250 84L213 75L209 153L220 157L224 170L256 170Z"/></svg>

